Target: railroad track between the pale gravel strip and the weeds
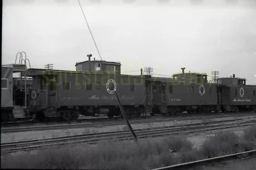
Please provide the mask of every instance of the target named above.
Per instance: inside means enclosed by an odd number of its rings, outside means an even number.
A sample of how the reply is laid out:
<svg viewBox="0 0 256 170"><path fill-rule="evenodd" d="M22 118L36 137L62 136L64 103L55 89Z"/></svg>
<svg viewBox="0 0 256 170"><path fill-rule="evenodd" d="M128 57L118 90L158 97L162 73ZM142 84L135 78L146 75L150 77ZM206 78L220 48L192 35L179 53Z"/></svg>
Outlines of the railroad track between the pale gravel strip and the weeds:
<svg viewBox="0 0 256 170"><path fill-rule="evenodd" d="M136 136L141 139L148 137L166 136L170 134L228 129L232 127L243 127L255 124L256 120L249 120L245 122L239 120L221 120L215 122L184 124L181 126L171 125L165 127L134 129L134 132L136 133ZM48 148L52 146L77 145L79 143L93 144L98 143L99 141L113 141L125 139L132 139L132 135L128 130L99 132L95 134L81 134L74 136L61 136L56 138L15 141L12 143L1 143L1 152L17 152L24 150L35 150L38 148Z"/></svg>

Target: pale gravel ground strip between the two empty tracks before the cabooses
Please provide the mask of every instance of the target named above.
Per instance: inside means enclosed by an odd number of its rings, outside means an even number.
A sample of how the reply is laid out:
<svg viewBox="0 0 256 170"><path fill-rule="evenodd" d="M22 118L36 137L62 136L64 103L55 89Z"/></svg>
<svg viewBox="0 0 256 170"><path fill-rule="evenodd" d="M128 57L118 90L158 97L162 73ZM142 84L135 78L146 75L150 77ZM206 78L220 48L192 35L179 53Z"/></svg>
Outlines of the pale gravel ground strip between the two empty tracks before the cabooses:
<svg viewBox="0 0 256 170"><path fill-rule="evenodd" d="M251 116L245 115L244 120L256 120L256 115L252 114ZM219 120L233 120L234 117L223 117L223 118L203 118L200 120L166 120L165 122L147 122L140 124L132 124L133 129L141 128L152 128L152 127L163 127L168 125L184 125L200 122L214 122ZM125 123L124 123L125 124ZM97 126L97 127L85 127L85 128L73 128L73 129L56 129L56 130L47 130L47 131L28 131L28 132L10 132L10 133L1 133L1 143L13 142L13 141L22 141L28 139L39 139L39 138L54 138L58 136L69 136L77 134L89 134L96 132L109 132L109 131L121 131L127 129L126 125L108 125L108 126Z"/></svg>

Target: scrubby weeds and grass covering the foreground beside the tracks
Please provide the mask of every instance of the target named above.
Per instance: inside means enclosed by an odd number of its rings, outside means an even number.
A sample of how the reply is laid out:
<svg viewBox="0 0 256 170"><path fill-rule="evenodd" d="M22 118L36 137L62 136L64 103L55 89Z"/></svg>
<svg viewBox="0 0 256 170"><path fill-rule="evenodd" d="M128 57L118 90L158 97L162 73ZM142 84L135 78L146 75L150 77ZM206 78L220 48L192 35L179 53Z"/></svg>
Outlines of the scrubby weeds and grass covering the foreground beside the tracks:
<svg viewBox="0 0 256 170"><path fill-rule="evenodd" d="M1 168L22 169L152 169L193 160L256 149L256 126L244 134L218 132L200 148L186 138L150 138L102 142L97 145L67 146L39 150L38 153L2 154Z"/></svg>

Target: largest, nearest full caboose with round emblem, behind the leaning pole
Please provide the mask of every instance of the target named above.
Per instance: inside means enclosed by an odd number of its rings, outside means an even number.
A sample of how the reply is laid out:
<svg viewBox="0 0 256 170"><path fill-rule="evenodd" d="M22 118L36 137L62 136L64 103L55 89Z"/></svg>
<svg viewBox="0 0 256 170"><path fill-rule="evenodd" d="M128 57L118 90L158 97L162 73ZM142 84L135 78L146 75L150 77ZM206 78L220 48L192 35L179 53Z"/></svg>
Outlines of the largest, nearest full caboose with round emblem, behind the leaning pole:
<svg viewBox="0 0 256 170"><path fill-rule="evenodd" d="M145 113L145 78L120 74L120 62L89 60L76 63L76 71L28 69L33 77L30 111L38 119L59 117L76 120L78 115L120 115L115 96L108 94L106 83L115 80L120 101L127 115Z"/></svg>

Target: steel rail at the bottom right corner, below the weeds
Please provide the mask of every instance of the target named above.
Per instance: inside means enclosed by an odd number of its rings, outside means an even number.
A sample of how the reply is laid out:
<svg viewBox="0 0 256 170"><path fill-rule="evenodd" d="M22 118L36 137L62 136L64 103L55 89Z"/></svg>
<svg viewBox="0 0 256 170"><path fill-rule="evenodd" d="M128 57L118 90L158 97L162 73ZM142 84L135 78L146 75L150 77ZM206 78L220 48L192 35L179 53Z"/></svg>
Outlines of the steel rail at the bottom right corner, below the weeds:
<svg viewBox="0 0 256 170"><path fill-rule="evenodd" d="M202 164L207 164L209 162L227 161L227 160L232 160L232 159L241 159L241 158L244 158L244 157L249 157L249 155L256 155L256 150L234 153L234 154L230 154L230 155L224 155L224 156L221 156L221 157L213 157L213 158L210 158L210 159L196 160L196 161L193 161L193 162L186 162L186 163L183 163L183 164L177 164L177 165L173 165L173 166L159 167L159 168L152 169L152 170L184 169L184 168L188 168L188 166L191 168L191 166L193 166L193 167L201 166Z"/></svg>

